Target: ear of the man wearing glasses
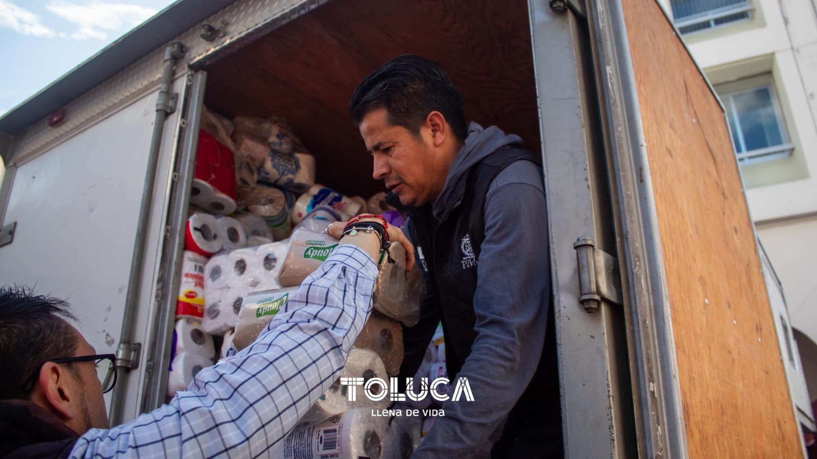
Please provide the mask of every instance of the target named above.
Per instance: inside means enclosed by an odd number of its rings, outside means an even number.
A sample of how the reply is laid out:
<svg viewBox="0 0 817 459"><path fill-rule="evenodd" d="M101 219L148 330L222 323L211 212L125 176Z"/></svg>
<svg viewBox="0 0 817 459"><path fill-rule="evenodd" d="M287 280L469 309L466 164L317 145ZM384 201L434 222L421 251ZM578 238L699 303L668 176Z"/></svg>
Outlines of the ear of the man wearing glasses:
<svg viewBox="0 0 817 459"><path fill-rule="evenodd" d="M65 366L53 362L43 363L31 399L60 418L60 421L68 423L79 417L82 409L79 406L80 389L75 379Z"/></svg>

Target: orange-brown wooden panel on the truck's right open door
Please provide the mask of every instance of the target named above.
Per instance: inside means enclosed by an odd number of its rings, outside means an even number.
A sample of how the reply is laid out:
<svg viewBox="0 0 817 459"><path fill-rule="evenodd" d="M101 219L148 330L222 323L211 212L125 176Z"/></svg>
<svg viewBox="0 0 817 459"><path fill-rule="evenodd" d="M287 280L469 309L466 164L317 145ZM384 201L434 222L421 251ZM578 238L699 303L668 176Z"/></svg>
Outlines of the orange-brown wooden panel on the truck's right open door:
<svg viewBox="0 0 817 459"><path fill-rule="evenodd" d="M721 107L654 0L623 0L690 457L799 457Z"/></svg>

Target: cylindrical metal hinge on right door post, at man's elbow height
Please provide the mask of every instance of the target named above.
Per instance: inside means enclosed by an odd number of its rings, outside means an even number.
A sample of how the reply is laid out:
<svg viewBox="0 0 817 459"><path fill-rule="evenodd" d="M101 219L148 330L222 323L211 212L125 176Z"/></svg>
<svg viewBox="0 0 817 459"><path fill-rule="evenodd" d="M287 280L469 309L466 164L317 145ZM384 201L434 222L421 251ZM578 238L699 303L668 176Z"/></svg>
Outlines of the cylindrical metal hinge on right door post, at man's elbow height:
<svg viewBox="0 0 817 459"><path fill-rule="evenodd" d="M578 261L578 302L588 313L599 309L600 301L623 304L618 260L596 248L592 238L582 236L573 243Z"/></svg>

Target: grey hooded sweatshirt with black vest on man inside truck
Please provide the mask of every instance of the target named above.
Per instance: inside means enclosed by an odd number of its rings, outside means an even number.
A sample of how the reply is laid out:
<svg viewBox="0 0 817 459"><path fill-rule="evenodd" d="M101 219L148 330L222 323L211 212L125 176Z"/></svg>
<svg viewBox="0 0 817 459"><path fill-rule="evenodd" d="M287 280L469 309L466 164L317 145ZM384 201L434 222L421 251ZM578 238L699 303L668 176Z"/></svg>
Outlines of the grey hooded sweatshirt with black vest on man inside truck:
<svg viewBox="0 0 817 459"><path fill-rule="evenodd" d="M474 457L494 442L493 457L560 454L541 158L518 136L471 123L440 197L408 213L426 299L404 331L401 376L417 370L441 321L449 378L467 377L475 397L444 403L416 457Z"/></svg>

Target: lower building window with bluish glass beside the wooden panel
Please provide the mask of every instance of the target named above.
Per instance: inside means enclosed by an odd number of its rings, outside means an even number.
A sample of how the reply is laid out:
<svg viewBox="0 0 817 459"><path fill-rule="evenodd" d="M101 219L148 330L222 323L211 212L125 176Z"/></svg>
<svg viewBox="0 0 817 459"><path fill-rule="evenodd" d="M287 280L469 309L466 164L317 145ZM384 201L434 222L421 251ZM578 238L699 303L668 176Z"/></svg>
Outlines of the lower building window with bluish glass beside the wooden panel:
<svg viewBox="0 0 817 459"><path fill-rule="evenodd" d="M740 161L786 156L794 148L770 80L756 77L717 87Z"/></svg>

